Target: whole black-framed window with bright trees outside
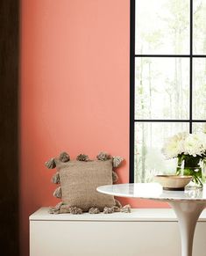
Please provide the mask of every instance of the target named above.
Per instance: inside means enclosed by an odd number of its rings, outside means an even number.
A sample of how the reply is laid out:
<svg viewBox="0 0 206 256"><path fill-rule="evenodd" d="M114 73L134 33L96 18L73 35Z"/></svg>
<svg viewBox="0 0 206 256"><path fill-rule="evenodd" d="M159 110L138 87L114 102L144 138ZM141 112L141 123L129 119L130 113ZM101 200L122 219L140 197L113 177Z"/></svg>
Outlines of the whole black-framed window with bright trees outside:
<svg viewBox="0 0 206 256"><path fill-rule="evenodd" d="M161 147L183 131L206 132L206 0L131 0L130 181L174 172Z"/></svg>

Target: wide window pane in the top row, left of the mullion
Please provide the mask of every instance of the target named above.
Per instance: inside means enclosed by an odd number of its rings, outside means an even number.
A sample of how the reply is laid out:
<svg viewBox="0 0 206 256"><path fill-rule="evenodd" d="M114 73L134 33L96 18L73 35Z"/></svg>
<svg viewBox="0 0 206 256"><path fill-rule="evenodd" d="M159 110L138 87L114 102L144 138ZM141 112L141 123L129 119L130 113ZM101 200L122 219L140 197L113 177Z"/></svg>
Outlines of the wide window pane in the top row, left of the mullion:
<svg viewBox="0 0 206 256"><path fill-rule="evenodd" d="M136 54L189 53L189 0L136 0Z"/></svg>

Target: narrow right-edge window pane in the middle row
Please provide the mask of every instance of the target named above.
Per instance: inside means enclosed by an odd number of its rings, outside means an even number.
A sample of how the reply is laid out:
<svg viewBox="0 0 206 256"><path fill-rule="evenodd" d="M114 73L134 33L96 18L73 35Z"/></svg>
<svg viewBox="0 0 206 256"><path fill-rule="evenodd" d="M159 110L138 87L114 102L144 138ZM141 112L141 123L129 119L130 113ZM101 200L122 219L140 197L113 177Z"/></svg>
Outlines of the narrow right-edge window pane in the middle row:
<svg viewBox="0 0 206 256"><path fill-rule="evenodd" d="M206 120L206 59L193 59L193 119Z"/></svg>

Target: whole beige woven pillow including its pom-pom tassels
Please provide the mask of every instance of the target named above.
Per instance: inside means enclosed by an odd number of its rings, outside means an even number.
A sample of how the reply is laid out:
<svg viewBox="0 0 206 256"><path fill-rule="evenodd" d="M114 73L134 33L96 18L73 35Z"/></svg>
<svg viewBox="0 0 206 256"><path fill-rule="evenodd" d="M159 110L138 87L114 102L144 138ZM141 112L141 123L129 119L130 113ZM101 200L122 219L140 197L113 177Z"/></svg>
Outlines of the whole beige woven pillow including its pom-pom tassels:
<svg viewBox="0 0 206 256"><path fill-rule="evenodd" d="M89 160L87 155L81 154L76 160L70 160L69 155L62 152L60 157L51 158L45 163L49 169L57 168L52 182L59 184L59 187L53 196L61 199L56 207L50 208L51 213L97 214L100 211L120 211L121 204L114 196L101 194L96 191L96 187L111 185L117 181L117 173L113 171L113 167L119 166L124 158L110 157L105 152L101 152L96 158Z"/></svg>

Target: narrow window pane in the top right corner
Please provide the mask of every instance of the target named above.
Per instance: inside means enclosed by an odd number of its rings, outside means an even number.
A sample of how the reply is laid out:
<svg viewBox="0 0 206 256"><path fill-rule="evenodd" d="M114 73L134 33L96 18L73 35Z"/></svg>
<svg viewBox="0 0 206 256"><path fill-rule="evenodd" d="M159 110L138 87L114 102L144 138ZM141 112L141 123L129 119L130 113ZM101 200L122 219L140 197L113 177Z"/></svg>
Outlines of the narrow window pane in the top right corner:
<svg viewBox="0 0 206 256"><path fill-rule="evenodd" d="M206 0L194 0L193 53L206 55Z"/></svg>

